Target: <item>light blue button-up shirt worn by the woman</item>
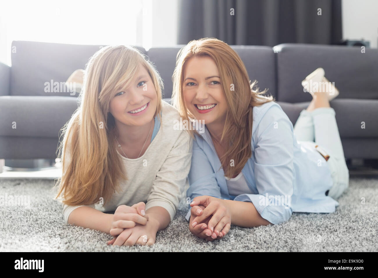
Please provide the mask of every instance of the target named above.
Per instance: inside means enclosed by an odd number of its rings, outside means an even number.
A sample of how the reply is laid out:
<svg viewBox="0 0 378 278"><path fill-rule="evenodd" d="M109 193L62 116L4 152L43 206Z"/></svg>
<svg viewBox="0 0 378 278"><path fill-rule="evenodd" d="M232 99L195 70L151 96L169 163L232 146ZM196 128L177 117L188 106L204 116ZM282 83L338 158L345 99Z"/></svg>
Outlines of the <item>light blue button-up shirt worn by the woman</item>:
<svg viewBox="0 0 378 278"><path fill-rule="evenodd" d="M325 195L333 185L329 165L314 142L297 142L293 130L276 102L253 107L252 156L242 169L253 194L232 196L206 127L193 142L187 197L191 201L207 195L252 202L262 218L272 224L288 221L293 212L334 212L339 203ZM187 221L190 216L189 206Z"/></svg>

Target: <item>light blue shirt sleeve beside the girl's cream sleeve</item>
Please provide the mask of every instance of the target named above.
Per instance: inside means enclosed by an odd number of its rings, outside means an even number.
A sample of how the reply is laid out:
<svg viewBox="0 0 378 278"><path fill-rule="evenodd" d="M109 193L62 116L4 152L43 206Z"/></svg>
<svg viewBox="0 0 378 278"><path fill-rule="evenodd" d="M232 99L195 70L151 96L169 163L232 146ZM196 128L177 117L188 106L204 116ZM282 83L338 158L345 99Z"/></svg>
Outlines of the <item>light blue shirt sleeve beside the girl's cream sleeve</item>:
<svg viewBox="0 0 378 278"><path fill-rule="evenodd" d="M197 138L197 140L201 139ZM222 199L214 169L211 166L209 158L203 149L200 148L196 140L193 142L192 164L188 179L190 186L186 191L186 196L190 197L190 202L192 202L195 197L204 195ZM189 205L185 219L189 221L190 216L191 207Z"/></svg>

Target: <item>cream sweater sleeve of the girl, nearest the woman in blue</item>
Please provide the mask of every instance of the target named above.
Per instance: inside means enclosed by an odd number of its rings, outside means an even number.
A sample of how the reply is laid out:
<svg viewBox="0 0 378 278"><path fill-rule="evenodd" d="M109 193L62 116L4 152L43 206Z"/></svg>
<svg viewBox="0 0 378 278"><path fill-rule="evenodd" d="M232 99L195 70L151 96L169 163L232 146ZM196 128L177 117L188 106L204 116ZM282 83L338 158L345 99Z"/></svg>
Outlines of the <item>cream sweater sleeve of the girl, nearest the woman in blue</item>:
<svg viewBox="0 0 378 278"><path fill-rule="evenodd" d="M192 146L193 139L183 130L156 173L147 198L146 210L156 206L163 207L168 211L170 221L174 219L191 166Z"/></svg>

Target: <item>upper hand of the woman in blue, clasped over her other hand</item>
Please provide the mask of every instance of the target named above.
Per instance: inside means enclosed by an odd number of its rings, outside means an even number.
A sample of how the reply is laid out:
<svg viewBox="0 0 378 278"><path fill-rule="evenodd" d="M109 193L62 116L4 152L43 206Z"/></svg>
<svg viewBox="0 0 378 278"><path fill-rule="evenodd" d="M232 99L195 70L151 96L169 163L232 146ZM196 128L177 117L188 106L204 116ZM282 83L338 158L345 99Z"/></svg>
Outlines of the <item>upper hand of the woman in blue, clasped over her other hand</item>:
<svg viewBox="0 0 378 278"><path fill-rule="evenodd" d="M196 225L201 225L205 219L210 217L211 219L207 224L206 230L211 230L213 238L214 233L216 236L219 236L220 233L222 236L225 236L226 233L228 233L231 228L231 213L222 203L221 199L211 196L198 196L193 199L193 202L190 205L192 208L198 205L203 205L205 207L205 209L199 213L197 213L196 210L197 216L193 218L191 224L193 228L195 228ZM193 226L193 224L195 225Z"/></svg>

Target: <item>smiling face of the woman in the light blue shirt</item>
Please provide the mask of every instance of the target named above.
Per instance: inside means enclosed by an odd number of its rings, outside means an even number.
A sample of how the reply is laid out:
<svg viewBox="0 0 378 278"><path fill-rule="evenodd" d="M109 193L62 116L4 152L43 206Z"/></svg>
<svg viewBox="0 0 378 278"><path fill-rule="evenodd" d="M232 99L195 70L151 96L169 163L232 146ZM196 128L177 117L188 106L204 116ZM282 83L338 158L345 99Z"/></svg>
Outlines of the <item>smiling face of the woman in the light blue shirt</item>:
<svg viewBox="0 0 378 278"><path fill-rule="evenodd" d="M183 95L186 108L205 124L223 123L228 106L214 60L194 56L184 65Z"/></svg>

